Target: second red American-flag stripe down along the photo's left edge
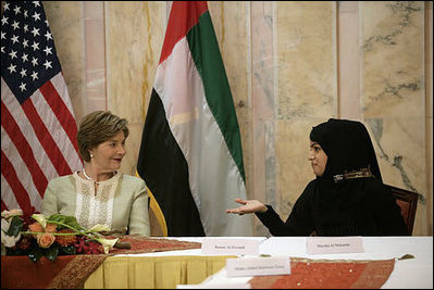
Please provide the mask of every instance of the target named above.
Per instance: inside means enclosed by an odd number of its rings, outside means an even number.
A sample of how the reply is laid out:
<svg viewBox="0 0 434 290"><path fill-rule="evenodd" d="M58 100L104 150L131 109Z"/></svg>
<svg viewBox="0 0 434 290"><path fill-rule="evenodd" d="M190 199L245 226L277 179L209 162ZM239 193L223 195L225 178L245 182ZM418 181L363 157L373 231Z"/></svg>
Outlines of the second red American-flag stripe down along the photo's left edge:
<svg viewBox="0 0 434 290"><path fill-rule="evenodd" d="M32 204L30 199L27 194L27 190L21 184L20 178L16 176L16 172L12 166L12 163L4 155L3 150L1 150L1 174L3 175L4 179L8 180L8 184L12 188L12 191L15 194L15 199L18 202L20 207L24 212L30 212ZM1 206L3 207L3 202Z"/></svg>

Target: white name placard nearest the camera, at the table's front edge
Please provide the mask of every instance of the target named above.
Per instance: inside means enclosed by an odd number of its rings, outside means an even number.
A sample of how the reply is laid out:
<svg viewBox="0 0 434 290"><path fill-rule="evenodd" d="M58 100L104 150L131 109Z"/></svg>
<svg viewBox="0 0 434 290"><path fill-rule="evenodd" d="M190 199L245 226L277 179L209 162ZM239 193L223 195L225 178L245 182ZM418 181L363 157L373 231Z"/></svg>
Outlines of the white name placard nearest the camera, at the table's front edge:
<svg viewBox="0 0 434 290"><path fill-rule="evenodd" d="M289 257L240 257L226 260L227 277L288 275Z"/></svg>

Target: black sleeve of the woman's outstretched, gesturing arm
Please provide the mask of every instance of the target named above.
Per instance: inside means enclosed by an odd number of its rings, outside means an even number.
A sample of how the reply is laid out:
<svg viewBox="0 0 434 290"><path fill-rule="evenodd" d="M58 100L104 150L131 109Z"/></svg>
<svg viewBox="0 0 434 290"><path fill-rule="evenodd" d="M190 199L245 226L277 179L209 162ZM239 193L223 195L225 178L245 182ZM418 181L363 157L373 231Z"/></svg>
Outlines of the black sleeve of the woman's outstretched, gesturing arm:
<svg viewBox="0 0 434 290"><path fill-rule="evenodd" d="M309 236L313 231L311 218L311 184L294 204L293 211L284 223L271 205L265 213L256 213L261 223L268 227L273 236Z"/></svg>

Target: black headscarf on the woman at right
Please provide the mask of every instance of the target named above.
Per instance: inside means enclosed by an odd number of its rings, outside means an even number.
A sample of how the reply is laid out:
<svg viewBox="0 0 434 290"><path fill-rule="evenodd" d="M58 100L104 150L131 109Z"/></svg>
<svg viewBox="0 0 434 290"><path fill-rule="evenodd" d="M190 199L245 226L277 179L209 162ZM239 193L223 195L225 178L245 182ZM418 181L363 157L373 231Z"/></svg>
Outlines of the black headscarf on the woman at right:
<svg viewBox="0 0 434 290"><path fill-rule="evenodd" d="M377 179L383 180L371 138L362 123L330 118L312 128L310 140L318 142L327 155L322 178L370 168Z"/></svg>

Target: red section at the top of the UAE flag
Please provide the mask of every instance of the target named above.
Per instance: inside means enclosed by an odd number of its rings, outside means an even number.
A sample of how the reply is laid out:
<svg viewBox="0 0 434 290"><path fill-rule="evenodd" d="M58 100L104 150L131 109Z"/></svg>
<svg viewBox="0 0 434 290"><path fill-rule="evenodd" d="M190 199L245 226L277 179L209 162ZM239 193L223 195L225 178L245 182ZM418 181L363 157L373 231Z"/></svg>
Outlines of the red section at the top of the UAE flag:
<svg viewBox="0 0 434 290"><path fill-rule="evenodd" d="M199 17L208 11L207 1L173 1L165 30L164 45L161 49L160 63L172 53L173 47L187 35L193 26L199 23Z"/></svg>

